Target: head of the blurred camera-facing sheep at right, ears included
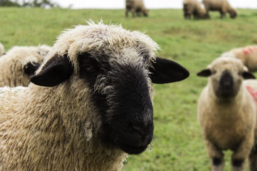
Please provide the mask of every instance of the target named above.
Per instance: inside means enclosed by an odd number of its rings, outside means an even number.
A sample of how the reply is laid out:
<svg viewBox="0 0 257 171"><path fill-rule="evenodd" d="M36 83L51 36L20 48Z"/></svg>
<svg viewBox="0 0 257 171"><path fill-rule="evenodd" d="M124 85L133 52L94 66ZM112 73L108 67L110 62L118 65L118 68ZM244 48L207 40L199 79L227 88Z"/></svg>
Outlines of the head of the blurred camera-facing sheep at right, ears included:
<svg viewBox="0 0 257 171"><path fill-rule="evenodd" d="M255 78L236 58L217 58L208 68L197 74L209 76L209 86L218 99L229 100L238 94L243 79Z"/></svg>

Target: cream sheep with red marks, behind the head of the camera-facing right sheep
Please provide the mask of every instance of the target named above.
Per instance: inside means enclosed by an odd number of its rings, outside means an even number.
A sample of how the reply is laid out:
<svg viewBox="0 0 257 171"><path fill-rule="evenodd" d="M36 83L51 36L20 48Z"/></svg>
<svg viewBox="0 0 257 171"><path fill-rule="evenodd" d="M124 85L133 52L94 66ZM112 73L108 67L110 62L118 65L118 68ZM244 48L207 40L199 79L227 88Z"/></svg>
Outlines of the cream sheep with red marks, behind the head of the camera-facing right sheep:
<svg viewBox="0 0 257 171"><path fill-rule="evenodd" d="M240 59L250 72L257 71L257 45L233 48L224 52L222 56L230 53L232 57Z"/></svg>

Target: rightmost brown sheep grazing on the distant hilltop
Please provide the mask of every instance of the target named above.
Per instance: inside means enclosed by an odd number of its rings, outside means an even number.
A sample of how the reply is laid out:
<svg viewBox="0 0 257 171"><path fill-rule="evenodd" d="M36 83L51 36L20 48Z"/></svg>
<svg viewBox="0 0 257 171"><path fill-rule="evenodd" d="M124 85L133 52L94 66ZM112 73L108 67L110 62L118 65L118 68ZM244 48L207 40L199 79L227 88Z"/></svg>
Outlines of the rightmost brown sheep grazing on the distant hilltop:
<svg viewBox="0 0 257 171"><path fill-rule="evenodd" d="M236 9L232 8L226 0L202 0L202 3L205 6L209 18L209 11L220 11L220 18L225 17L227 12L232 19L237 16Z"/></svg>

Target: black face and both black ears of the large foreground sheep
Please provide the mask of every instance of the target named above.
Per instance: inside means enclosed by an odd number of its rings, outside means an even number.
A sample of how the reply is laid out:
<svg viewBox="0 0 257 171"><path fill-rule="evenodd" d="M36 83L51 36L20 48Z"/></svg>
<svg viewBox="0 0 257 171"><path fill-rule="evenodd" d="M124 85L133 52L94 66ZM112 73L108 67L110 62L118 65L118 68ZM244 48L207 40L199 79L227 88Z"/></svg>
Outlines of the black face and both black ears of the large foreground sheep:
<svg viewBox="0 0 257 171"><path fill-rule="evenodd" d="M91 87L92 101L102 117L97 136L129 154L140 154L152 141L154 130L150 79L157 84L176 82L187 78L189 72L176 62L159 57L152 62L153 68L148 66L148 58L141 64L118 62L112 65L106 59L108 57L96 58L87 52L78 56L79 77ZM73 72L68 56L56 55L31 82L56 86L68 80ZM111 88L96 91L97 84Z"/></svg>

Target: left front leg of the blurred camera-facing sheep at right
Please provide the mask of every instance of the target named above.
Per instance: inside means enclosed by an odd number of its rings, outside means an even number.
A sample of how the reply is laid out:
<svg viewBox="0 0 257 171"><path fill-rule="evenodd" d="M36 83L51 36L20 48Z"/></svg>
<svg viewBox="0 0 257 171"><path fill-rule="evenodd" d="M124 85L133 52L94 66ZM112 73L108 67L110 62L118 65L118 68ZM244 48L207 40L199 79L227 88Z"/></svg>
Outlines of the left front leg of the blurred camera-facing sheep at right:
<svg viewBox="0 0 257 171"><path fill-rule="evenodd" d="M213 143L205 140L205 145L208 154L212 160L212 171L222 171L224 169L224 154L221 149L218 149Z"/></svg>

